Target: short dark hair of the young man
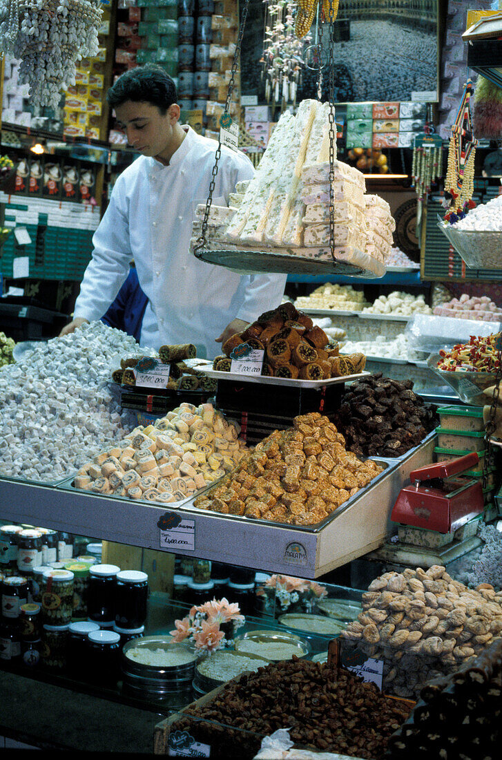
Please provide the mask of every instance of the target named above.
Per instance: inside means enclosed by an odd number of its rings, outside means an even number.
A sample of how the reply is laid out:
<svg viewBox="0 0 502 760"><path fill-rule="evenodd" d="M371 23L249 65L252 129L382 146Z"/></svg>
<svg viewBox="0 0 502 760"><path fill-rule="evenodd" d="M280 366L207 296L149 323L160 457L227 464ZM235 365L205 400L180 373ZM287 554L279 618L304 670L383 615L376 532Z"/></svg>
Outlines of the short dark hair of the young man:
<svg viewBox="0 0 502 760"><path fill-rule="evenodd" d="M157 106L163 116L177 97L172 78L163 68L153 63L126 71L106 93L110 108L122 106L126 100L133 100L135 103Z"/></svg>

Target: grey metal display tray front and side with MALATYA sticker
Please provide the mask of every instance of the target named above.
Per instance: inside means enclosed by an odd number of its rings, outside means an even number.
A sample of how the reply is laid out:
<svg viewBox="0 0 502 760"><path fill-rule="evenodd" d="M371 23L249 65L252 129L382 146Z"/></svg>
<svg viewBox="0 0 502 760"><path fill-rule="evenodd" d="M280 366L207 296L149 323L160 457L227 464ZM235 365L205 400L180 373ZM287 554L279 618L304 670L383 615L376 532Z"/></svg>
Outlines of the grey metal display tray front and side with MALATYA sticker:
<svg viewBox="0 0 502 760"><path fill-rule="evenodd" d="M150 502L115 499L66 486L42 486L0 479L2 518L43 524L96 539L212 559L302 578L317 578L384 543L392 532L390 512L409 473L433 459L435 435L399 459L387 459L381 477L316 527L285 526L235 519ZM376 458L375 459L379 459ZM166 540L159 519L178 516L183 542ZM187 548L192 545L194 549Z"/></svg>

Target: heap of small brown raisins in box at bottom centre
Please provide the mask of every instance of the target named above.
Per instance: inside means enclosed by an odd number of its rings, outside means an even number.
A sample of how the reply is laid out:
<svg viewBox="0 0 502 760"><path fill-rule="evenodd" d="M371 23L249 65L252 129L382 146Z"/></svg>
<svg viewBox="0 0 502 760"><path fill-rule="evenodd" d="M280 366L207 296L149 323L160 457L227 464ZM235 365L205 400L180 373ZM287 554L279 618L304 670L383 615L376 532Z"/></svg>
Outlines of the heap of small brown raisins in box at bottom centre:
<svg viewBox="0 0 502 760"><path fill-rule="evenodd" d="M171 730L188 730L197 741L213 747L222 737L215 724L260 735L289 728L297 745L381 758L387 739L409 717L411 708L348 670L293 656L235 679L206 705L188 707ZM228 741L227 731L223 736Z"/></svg>

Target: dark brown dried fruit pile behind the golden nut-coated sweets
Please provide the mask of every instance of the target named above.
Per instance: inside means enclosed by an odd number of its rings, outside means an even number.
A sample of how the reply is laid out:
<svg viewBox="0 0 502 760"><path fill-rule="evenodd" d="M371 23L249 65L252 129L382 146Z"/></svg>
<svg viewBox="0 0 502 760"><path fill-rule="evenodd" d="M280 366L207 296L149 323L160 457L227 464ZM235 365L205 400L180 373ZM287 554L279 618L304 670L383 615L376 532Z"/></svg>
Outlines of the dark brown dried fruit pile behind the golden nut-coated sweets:
<svg viewBox="0 0 502 760"><path fill-rule="evenodd" d="M335 420L349 451L397 457L423 441L438 424L437 414L412 388L411 380L381 372L352 383Z"/></svg>

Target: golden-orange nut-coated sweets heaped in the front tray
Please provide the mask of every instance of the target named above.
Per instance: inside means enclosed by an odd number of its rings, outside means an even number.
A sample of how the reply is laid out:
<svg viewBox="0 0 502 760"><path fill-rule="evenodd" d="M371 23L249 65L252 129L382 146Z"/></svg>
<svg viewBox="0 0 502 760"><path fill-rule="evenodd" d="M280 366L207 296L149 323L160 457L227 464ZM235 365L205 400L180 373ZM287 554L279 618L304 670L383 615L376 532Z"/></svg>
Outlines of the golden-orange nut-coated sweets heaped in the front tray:
<svg viewBox="0 0 502 760"><path fill-rule="evenodd" d="M238 467L195 499L200 509L273 522L311 525L364 488L382 467L360 461L327 416L295 417L275 430Z"/></svg>

